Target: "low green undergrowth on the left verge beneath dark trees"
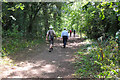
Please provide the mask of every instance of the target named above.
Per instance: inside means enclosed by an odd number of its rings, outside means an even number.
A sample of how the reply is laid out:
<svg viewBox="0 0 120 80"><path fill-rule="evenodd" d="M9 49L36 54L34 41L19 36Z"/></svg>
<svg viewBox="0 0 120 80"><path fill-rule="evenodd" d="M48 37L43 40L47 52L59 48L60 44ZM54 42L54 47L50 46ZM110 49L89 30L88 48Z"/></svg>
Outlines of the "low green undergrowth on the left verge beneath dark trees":
<svg viewBox="0 0 120 80"><path fill-rule="evenodd" d="M24 32L18 32L18 26L14 26L13 31L3 31L2 37L2 57L9 54L13 54L19 50L23 50L27 47L33 47L39 45L44 41L42 37L36 37L36 35L25 36Z"/></svg>

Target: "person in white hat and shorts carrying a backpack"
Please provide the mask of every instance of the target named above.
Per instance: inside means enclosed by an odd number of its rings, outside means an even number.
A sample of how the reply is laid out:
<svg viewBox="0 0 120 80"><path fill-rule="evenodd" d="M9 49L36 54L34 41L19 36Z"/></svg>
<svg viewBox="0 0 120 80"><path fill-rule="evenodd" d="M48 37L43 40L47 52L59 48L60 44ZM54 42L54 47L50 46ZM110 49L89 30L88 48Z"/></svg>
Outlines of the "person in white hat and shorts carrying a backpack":
<svg viewBox="0 0 120 80"><path fill-rule="evenodd" d="M53 50L54 37L56 37L55 31L53 30L52 25L49 27L50 30L47 31L46 40L49 37L49 52Z"/></svg>

